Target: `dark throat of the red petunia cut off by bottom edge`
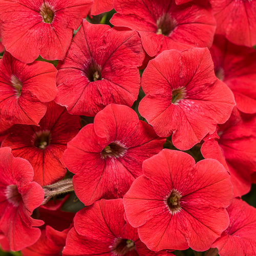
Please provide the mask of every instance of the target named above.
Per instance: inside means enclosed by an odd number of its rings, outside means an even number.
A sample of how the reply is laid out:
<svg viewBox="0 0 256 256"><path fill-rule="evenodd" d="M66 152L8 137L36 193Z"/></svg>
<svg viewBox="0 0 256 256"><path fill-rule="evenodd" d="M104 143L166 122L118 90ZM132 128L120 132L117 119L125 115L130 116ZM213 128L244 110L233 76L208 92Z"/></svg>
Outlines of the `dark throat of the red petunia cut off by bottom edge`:
<svg viewBox="0 0 256 256"><path fill-rule="evenodd" d="M135 242L130 239L116 238L110 249L114 255L125 255L135 249Z"/></svg>

